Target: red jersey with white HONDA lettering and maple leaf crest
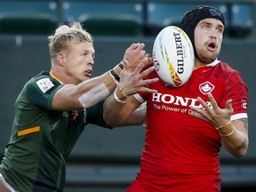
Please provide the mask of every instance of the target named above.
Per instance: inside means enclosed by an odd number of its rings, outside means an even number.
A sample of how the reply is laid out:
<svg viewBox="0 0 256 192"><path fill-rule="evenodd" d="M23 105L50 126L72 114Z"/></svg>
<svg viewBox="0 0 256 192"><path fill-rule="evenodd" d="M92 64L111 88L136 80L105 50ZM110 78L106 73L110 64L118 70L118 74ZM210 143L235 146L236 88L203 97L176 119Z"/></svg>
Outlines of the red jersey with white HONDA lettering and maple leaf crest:
<svg viewBox="0 0 256 192"><path fill-rule="evenodd" d="M153 78L157 74L154 72L150 76ZM164 178L200 174L219 177L219 131L204 120L190 116L195 111L189 106L201 106L196 99L198 96L211 106L207 97L211 92L220 108L226 108L227 100L233 100L231 120L247 118L247 86L240 74L227 63L215 60L210 65L196 68L188 82L179 88L166 86L161 80L149 87L158 92L135 95L141 102L148 101L141 172Z"/></svg>

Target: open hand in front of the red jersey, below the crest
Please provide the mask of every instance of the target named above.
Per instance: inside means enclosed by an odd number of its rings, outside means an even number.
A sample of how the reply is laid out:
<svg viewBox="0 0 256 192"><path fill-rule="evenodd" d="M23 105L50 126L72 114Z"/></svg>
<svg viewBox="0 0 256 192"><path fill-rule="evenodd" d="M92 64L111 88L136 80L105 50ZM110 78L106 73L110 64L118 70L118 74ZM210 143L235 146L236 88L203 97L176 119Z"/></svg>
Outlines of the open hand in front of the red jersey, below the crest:
<svg viewBox="0 0 256 192"><path fill-rule="evenodd" d="M190 115L201 118L216 128L228 124L233 113L232 100L227 101L226 108L220 108L211 93L208 93L207 96L210 100L211 106L202 100L202 98L198 97L197 100L203 108L190 106L189 108L196 111L196 113L191 113Z"/></svg>

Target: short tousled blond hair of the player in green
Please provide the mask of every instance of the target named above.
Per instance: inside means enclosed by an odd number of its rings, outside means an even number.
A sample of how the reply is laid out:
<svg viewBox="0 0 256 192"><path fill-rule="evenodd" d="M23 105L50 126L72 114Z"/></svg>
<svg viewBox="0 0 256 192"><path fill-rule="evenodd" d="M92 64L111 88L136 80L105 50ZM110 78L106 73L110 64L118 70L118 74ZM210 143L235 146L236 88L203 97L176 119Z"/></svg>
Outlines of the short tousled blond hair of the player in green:
<svg viewBox="0 0 256 192"><path fill-rule="evenodd" d="M92 42L92 35L89 34L79 22L68 25L60 25L54 35L48 36L51 58L55 58L60 51L68 51L70 43Z"/></svg>

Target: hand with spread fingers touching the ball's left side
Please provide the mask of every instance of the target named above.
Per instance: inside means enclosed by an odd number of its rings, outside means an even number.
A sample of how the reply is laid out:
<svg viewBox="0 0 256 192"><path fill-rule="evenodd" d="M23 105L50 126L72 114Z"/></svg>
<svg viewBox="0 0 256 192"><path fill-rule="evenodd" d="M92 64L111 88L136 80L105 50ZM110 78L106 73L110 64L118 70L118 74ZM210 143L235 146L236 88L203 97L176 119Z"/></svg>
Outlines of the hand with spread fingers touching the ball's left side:
<svg viewBox="0 0 256 192"><path fill-rule="evenodd" d="M122 88L125 96L129 96L137 92L157 92L156 90L149 89L145 85L157 82L159 80L158 78L143 79L152 71L156 70L155 66L152 66L142 71L143 68L152 62L149 57L145 57L141 60L140 64L132 72L130 72L129 62L127 60L123 60L123 62L124 69L121 72L120 83L118 86Z"/></svg>

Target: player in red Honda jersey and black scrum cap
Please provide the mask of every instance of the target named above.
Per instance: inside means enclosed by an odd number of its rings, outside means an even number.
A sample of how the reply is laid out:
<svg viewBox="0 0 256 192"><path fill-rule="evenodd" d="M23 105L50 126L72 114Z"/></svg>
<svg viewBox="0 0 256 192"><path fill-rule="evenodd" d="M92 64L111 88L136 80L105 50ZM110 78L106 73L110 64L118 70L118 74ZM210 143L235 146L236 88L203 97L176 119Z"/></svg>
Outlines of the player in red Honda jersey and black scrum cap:
<svg viewBox="0 0 256 192"><path fill-rule="evenodd" d="M157 92L129 96L120 81L121 89L105 103L105 119L117 125L147 101L140 172L128 192L220 191L221 145L236 157L248 148L247 86L239 72L218 60L223 15L196 6L184 15L181 28L195 50L195 69L186 84L172 88L159 81L148 85Z"/></svg>

